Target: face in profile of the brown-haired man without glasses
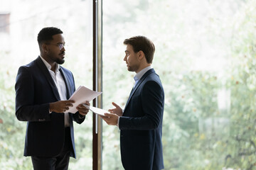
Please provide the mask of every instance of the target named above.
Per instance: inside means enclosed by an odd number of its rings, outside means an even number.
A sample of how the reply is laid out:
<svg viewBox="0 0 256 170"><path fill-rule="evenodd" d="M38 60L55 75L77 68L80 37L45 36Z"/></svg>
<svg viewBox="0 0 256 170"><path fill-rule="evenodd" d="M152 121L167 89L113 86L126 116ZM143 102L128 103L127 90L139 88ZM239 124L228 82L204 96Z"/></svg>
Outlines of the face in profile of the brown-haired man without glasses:
<svg viewBox="0 0 256 170"><path fill-rule="evenodd" d="M134 52L132 45L127 45L127 49L125 50L124 61L127 64L127 69L129 72L137 72L139 69L139 60L138 60L139 52Z"/></svg>

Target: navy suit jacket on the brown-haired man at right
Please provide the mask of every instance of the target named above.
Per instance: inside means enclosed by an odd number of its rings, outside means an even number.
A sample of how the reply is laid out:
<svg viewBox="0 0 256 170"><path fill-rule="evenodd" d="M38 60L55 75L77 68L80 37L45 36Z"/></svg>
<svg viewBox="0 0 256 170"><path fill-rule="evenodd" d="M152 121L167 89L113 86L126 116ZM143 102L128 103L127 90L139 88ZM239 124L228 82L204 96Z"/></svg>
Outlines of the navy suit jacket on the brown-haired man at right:
<svg viewBox="0 0 256 170"><path fill-rule="evenodd" d="M119 118L124 169L164 169L163 114L164 89L154 69L149 69L132 90Z"/></svg>

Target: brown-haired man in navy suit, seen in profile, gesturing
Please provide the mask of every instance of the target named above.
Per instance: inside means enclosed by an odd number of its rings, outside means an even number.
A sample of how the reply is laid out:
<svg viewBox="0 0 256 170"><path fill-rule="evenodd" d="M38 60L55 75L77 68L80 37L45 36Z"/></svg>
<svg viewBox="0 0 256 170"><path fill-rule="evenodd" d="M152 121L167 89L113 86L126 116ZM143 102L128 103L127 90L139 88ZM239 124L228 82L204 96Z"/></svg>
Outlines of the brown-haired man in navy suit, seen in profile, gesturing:
<svg viewBox="0 0 256 170"><path fill-rule="evenodd" d="M124 61L129 72L136 72L135 84L122 111L116 103L107 117L108 125L120 129L122 165L126 170L164 169L162 121L164 89L151 67L154 44L144 36L124 40L127 45Z"/></svg>

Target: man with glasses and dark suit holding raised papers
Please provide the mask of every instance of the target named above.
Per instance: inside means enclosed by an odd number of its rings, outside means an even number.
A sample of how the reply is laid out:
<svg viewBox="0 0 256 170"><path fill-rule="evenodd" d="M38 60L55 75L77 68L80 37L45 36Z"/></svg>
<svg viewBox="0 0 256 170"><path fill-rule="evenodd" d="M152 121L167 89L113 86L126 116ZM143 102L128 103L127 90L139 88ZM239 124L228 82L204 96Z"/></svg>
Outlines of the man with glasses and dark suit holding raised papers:
<svg viewBox="0 0 256 170"><path fill-rule="evenodd" d="M82 123L88 109L81 104L77 113L65 113L74 103L67 99L75 81L60 66L65 62L63 31L43 28L38 45L41 55L18 69L15 84L16 117L28 122L24 156L31 156L33 169L68 169L70 157L75 157L73 120Z"/></svg>

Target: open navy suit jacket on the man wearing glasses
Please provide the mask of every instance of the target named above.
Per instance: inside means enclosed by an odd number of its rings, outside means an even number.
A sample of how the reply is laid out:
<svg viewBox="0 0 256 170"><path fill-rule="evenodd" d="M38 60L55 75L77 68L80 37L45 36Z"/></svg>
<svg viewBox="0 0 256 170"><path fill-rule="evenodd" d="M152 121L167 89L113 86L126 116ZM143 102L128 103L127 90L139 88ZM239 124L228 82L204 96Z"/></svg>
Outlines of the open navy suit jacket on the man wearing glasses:
<svg viewBox="0 0 256 170"><path fill-rule="evenodd" d="M75 91L73 74L60 67L67 88L67 98ZM38 57L18 69L16 77L16 117L27 121L24 156L55 157L64 144L64 113L49 113L49 103L60 101L57 86L46 65ZM71 157L75 157L73 120L82 123L85 117L69 113L73 144Z"/></svg>

